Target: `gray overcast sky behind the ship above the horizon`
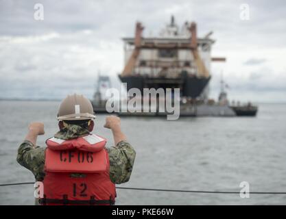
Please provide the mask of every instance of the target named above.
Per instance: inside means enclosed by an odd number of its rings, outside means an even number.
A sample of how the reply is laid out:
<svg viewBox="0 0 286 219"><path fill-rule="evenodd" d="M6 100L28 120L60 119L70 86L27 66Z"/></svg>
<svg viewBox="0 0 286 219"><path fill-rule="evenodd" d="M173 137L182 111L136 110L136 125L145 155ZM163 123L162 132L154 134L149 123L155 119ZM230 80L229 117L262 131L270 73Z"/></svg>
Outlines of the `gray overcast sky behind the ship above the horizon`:
<svg viewBox="0 0 286 219"><path fill-rule="evenodd" d="M44 21L34 20L34 5ZM239 18L248 3L250 20ZM93 96L97 72L112 76L123 68L121 38L156 36L171 15L176 23L195 21L198 36L214 31L211 97L219 79L230 100L286 102L285 1L11 1L0 0L0 98L62 99L79 92Z"/></svg>

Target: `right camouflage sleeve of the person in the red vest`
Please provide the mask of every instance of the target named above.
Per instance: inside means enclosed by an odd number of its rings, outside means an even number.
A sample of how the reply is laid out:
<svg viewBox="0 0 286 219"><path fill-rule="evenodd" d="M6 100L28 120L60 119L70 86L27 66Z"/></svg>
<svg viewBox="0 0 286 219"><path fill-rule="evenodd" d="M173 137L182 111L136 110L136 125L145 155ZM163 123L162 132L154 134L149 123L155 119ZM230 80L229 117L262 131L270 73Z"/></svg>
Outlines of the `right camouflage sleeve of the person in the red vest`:
<svg viewBox="0 0 286 219"><path fill-rule="evenodd" d="M108 154L112 183L120 184L129 181L136 155L132 146L126 141L121 141L117 146L108 148Z"/></svg>

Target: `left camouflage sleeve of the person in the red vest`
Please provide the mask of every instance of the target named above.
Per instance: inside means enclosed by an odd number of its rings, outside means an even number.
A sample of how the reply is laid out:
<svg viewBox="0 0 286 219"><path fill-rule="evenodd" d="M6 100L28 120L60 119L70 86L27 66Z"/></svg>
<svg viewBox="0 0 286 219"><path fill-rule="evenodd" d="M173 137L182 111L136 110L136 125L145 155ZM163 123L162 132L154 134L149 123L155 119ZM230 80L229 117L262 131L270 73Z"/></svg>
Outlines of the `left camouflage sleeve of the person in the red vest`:
<svg viewBox="0 0 286 219"><path fill-rule="evenodd" d="M25 140L18 149L17 162L31 170L37 181L43 181L45 177L45 149L34 146L32 142Z"/></svg>

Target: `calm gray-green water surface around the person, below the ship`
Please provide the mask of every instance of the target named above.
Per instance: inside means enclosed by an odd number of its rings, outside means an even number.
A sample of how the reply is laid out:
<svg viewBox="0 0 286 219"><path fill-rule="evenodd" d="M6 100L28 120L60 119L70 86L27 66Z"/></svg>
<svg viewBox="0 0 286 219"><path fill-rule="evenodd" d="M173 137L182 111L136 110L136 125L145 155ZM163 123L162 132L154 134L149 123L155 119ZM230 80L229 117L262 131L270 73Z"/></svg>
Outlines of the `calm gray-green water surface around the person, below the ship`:
<svg viewBox="0 0 286 219"><path fill-rule="evenodd" d="M59 102L0 101L0 183L33 181L16 162L16 151L32 121L45 123L45 136L57 129ZM108 138L104 115L95 133ZM121 118L122 129L136 149L128 183L120 186L178 190L286 192L286 105L259 105L256 118ZM1 205L33 205L33 185L0 187ZM191 194L117 190L117 205L259 205L286 204L286 195Z"/></svg>

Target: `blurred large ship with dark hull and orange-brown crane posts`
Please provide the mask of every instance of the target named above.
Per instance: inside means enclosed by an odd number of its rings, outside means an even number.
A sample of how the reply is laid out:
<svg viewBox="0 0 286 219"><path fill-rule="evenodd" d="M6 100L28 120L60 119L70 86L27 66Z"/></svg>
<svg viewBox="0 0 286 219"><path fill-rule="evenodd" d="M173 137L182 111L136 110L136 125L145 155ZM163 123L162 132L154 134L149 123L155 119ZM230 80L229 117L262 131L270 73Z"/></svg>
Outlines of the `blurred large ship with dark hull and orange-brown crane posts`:
<svg viewBox="0 0 286 219"><path fill-rule="evenodd" d="M123 38L125 67L119 75L130 88L180 88L180 95L191 99L208 98L211 79L211 47L215 42L206 34L197 38L197 25L178 27L174 16L158 37L143 37L143 26L136 23L134 38Z"/></svg>

